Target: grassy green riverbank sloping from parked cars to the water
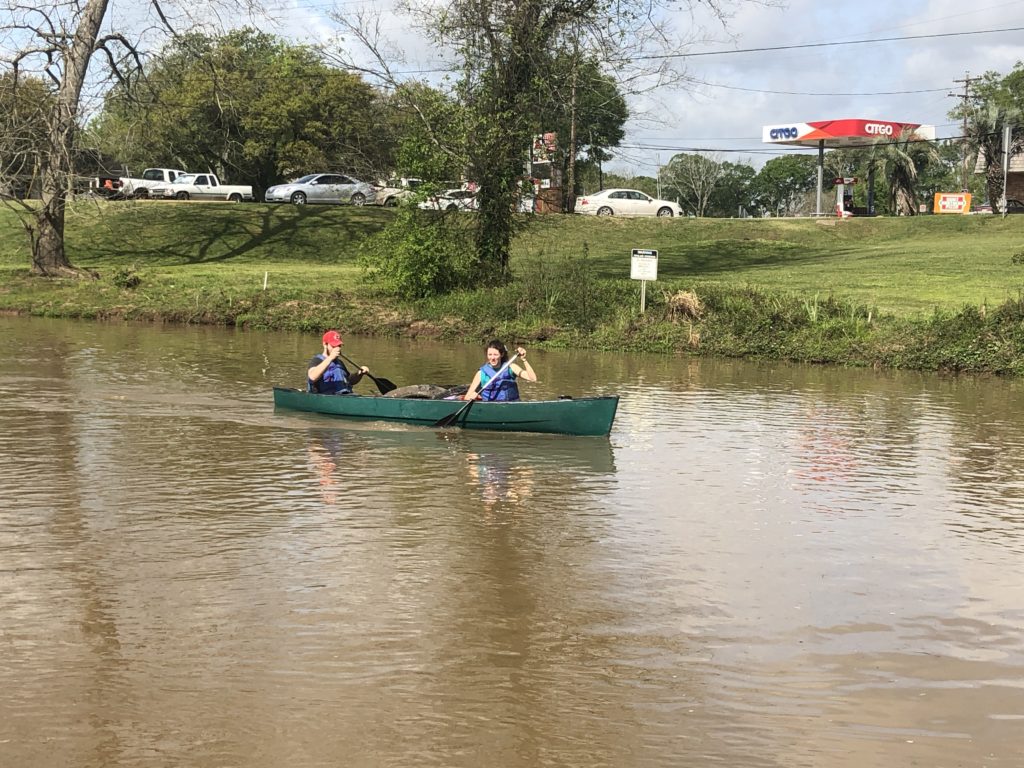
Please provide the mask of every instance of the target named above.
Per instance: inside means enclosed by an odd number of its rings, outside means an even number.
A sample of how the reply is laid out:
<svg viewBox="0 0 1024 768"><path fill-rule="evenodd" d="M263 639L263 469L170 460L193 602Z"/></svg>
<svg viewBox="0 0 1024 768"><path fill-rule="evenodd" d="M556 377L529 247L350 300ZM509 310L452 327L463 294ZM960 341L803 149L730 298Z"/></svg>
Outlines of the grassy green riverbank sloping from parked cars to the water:
<svg viewBox="0 0 1024 768"><path fill-rule="evenodd" d="M1024 217L537 217L511 285L413 303L377 295L355 263L393 215L78 204L70 258L100 280L44 281L0 209L0 310L1024 373ZM659 252L643 315L632 248Z"/></svg>

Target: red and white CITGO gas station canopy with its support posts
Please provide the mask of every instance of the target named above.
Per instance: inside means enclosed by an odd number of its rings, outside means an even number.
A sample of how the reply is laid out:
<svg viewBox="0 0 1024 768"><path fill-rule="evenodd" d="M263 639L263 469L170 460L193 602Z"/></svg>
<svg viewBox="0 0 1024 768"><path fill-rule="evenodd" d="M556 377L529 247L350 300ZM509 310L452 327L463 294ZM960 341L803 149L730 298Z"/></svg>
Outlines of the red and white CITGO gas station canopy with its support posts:
<svg viewBox="0 0 1024 768"><path fill-rule="evenodd" d="M824 174L825 147L870 146L876 142L910 138L935 140L935 126L920 123L900 123L891 120L816 120L812 123L782 123L766 125L761 130L761 141L766 144L813 146L818 150L818 203L816 215L821 215L821 179ZM872 185L868 184L868 209Z"/></svg>

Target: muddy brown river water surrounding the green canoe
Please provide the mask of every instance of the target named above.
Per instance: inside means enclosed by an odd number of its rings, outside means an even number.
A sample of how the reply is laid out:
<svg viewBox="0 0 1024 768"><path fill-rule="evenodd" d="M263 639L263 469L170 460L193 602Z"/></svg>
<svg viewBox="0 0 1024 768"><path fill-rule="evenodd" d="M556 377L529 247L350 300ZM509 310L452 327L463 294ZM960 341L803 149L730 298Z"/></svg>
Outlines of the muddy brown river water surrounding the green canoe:
<svg viewBox="0 0 1024 768"><path fill-rule="evenodd" d="M0 765L1024 764L1020 382L541 350L610 439L492 434L275 413L293 335L0 328Z"/></svg>

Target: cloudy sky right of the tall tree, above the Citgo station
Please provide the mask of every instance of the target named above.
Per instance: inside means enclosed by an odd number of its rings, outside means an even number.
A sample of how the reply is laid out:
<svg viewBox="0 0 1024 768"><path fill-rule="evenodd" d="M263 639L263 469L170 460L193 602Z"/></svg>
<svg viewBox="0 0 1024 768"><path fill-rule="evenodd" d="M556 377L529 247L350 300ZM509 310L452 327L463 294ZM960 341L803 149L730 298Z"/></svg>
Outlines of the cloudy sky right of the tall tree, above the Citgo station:
<svg viewBox="0 0 1024 768"><path fill-rule="evenodd" d="M735 42L709 45L702 50L1024 27L1024 3L981 2L971 7L959 0L903 4L889 0L844 4L795 0L784 9L746 4L729 25ZM1022 59L1024 34L1020 32L697 56L688 59L689 73L709 83L765 91L865 95L790 95L706 88L691 95L663 97L670 104L664 115L665 125L631 124L626 143L774 152L771 144L760 142L762 125L854 117L926 123L935 125L939 136L954 135L957 127L946 117L956 103L946 94L963 90L963 85L954 81L963 79L966 72L972 76L989 70L1009 72ZM931 92L868 95L909 90ZM709 141L707 137L722 140ZM671 155L666 150L659 154L663 162ZM622 155L621 163L630 170L649 174L654 171L658 153L631 148ZM767 157L757 155L752 159L760 166Z"/></svg>

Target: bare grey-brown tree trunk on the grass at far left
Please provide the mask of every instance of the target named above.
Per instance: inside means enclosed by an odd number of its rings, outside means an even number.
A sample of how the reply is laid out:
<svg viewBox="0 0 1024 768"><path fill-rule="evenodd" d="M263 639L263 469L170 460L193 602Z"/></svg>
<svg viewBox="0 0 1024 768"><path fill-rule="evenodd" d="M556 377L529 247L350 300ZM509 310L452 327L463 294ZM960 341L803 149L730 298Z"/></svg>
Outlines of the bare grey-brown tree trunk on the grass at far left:
<svg viewBox="0 0 1024 768"><path fill-rule="evenodd" d="M32 271L37 274L76 274L65 252L65 213L78 127L78 108L89 59L110 0L88 0L70 50L65 51L63 79L57 89L50 121L47 159L43 166L43 203L36 216L38 237L33 242Z"/></svg>

